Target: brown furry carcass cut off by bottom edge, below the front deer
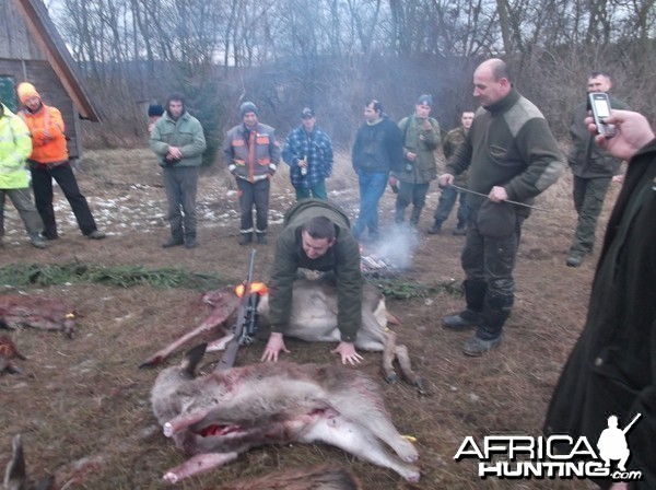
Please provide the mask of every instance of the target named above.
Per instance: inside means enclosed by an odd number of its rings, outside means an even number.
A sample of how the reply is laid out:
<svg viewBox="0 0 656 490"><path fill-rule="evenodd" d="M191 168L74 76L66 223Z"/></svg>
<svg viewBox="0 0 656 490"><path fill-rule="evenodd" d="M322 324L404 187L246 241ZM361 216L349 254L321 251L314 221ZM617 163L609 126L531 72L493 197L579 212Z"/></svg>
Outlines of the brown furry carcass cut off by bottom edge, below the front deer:
<svg viewBox="0 0 656 490"><path fill-rule="evenodd" d="M362 490L362 485L348 469L324 465L276 471L261 478L215 488L218 490Z"/></svg>

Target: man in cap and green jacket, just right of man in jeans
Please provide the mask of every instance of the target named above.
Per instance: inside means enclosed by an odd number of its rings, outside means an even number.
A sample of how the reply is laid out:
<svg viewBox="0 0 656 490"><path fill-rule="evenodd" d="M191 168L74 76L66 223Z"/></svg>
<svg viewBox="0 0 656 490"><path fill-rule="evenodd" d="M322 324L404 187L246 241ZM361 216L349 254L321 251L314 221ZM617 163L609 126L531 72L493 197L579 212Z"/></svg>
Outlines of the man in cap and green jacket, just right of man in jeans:
<svg viewBox="0 0 656 490"><path fill-rule="evenodd" d="M403 167L393 172L389 184L393 189L400 182L396 200L395 223L405 220L406 208L412 203L410 226L419 223L421 210L426 203L431 180L437 177L435 149L440 145L440 124L430 117L433 97L421 95L414 104L414 114L399 122L403 133Z"/></svg>

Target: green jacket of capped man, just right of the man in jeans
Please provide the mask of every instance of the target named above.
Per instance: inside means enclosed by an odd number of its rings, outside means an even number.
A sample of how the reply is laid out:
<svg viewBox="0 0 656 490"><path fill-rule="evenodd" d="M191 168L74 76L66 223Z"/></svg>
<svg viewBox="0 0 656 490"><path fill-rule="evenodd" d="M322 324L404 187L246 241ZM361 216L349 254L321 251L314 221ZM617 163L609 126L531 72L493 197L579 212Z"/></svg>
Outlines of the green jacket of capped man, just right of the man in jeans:
<svg viewBox="0 0 656 490"><path fill-rule="evenodd" d="M437 177L437 163L435 150L440 147L440 124L429 117L431 129L423 129L422 119L414 116L405 117L399 121L399 129L403 133L403 156L407 152L417 153L414 162L403 158L400 172L394 176L401 182L410 184L426 184Z"/></svg>

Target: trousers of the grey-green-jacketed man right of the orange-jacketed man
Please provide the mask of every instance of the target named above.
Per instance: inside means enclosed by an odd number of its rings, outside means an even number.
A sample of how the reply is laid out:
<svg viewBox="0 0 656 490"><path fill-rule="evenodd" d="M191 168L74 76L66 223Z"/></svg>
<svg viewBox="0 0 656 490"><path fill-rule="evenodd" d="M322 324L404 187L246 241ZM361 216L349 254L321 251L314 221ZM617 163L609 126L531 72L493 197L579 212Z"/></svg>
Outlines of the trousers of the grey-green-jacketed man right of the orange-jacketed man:
<svg viewBox="0 0 656 490"><path fill-rule="evenodd" d="M196 238L198 173L197 166L164 167L164 188L168 201L166 219L171 225L171 236L177 241Z"/></svg>

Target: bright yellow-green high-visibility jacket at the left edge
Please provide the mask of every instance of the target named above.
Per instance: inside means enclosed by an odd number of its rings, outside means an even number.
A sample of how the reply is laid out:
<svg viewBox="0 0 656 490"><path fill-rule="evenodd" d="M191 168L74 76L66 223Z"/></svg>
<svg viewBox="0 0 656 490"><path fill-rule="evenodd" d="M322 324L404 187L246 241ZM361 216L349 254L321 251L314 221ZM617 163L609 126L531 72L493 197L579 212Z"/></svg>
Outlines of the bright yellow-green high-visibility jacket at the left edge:
<svg viewBox="0 0 656 490"><path fill-rule="evenodd" d="M32 138L27 125L2 104L0 115L0 189L30 187L25 166L32 153Z"/></svg>

